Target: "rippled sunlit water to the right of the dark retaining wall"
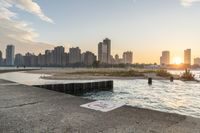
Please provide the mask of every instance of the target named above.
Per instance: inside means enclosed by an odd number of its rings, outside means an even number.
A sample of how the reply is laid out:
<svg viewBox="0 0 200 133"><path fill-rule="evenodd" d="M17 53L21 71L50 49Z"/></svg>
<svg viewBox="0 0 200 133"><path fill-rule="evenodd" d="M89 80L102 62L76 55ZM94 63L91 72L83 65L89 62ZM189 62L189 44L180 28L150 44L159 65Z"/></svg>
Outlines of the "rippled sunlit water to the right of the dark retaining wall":
<svg viewBox="0 0 200 133"><path fill-rule="evenodd" d="M179 113L194 117L200 116L200 84L175 80L153 81L149 86L146 80L114 80L113 95L88 96L96 100L115 100L127 105Z"/></svg>

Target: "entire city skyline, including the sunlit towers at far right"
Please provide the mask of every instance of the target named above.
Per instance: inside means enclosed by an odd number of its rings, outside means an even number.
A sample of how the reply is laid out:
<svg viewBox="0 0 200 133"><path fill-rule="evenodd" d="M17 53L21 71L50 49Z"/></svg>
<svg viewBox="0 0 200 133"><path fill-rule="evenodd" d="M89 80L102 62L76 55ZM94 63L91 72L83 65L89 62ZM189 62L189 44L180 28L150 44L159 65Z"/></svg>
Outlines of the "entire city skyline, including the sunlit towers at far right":
<svg viewBox="0 0 200 133"><path fill-rule="evenodd" d="M99 42L97 49L99 52L98 55L95 55L95 53L88 50L83 52L79 47L71 47L69 48L69 52L66 52L63 46L56 46L52 50L45 50L44 53L35 54L26 52L23 55L21 53L15 54L15 46L8 44L5 58L3 58L2 51L0 50L0 66L70 66L70 64L73 66L73 64L79 64L75 66L81 67L93 66L95 61L99 61L100 64L137 64L137 62L133 62L134 56L132 51L123 52L121 57L119 54L111 55L111 40L108 38ZM161 67L181 64L200 66L200 57L192 58L191 49L183 51L184 61L180 58L173 58L172 60L170 55L170 51L162 51L159 63ZM25 61L29 63L24 63ZM34 63L31 65L31 62Z"/></svg>

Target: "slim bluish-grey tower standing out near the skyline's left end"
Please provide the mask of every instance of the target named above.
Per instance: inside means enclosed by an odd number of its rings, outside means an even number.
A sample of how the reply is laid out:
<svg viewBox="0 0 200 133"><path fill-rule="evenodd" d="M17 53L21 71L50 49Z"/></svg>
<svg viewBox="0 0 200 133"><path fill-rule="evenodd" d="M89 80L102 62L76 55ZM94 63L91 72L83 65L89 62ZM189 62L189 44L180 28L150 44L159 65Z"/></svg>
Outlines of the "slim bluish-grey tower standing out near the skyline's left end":
<svg viewBox="0 0 200 133"><path fill-rule="evenodd" d="M14 57L15 56L15 46L7 45L6 48L6 65L13 66L14 65Z"/></svg>

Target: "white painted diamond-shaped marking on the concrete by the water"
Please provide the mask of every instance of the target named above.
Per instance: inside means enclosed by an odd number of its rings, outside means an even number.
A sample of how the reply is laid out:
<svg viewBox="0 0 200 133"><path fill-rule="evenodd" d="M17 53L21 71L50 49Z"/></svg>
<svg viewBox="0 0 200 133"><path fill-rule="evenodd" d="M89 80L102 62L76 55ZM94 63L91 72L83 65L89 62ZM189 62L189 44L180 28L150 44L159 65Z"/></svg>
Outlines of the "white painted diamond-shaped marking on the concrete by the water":
<svg viewBox="0 0 200 133"><path fill-rule="evenodd" d="M108 112L108 111L112 111L114 109L120 108L124 105L125 104L123 103L100 100L100 101L83 104L81 105L81 107L93 109L93 110L97 110L101 112Z"/></svg>

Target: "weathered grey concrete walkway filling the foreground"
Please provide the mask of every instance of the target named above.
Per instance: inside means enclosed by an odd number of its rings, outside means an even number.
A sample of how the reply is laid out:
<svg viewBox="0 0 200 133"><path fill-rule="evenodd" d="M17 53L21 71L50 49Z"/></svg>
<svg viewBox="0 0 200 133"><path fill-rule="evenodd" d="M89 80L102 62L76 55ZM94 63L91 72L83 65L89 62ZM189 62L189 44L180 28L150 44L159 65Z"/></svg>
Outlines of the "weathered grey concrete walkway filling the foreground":
<svg viewBox="0 0 200 133"><path fill-rule="evenodd" d="M108 113L91 100L0 80L1 133L200 133L200 119L124 106Z"/></svg>

